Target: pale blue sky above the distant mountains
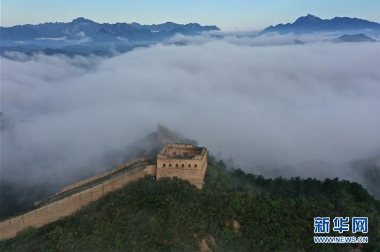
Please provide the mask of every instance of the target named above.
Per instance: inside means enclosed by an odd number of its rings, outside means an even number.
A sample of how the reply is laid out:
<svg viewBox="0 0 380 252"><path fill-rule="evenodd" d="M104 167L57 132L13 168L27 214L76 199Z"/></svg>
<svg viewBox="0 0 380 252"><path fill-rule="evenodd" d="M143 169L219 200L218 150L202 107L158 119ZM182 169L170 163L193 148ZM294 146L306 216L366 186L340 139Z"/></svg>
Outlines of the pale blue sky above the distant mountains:
<svg viewBox="0 0 380 252"><path fill-rule="evenodd" d="M379 0L1 0L1 26L86 17L99 23L197 22L225 30L261 29L314 14L380 23Z"/></svg>

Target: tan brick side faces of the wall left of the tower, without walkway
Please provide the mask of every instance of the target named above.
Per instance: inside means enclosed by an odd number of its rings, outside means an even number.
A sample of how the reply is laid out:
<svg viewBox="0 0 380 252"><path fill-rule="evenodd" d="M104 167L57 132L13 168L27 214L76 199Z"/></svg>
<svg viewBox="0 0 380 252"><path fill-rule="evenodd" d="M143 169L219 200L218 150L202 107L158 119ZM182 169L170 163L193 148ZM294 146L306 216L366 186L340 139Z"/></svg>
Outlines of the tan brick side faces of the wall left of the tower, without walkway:
<svg viewBox="0 0 380 252"><path fill-rule="evenodd" d="M111 172L117 171L117 169L122 169L126 166L133 165L137 162L141 162L141 160L144 160L144 158L133 160L120 167L117 167L116 169L113 169L108 173L99 175L100 177L95 177L101 178L102 176L106 176ZM119 176L104 181L102 184L96 185L79 193L75 193L72 196L68 196L67 198L64 198L62 200L58 200L51 204L47 204L44 207L40 207L38 209L25 213L22 216L17 216L15 218L11 218L9 220L0 222L0 240L14 238L19 231L22 231L27 227L42 227L45 224L54 222L65 216L70 216L70 214L74 213L78 209L81 209L89 202L93 200L98 200L106 193L114 191L115 189L120 189L129 182L138 180L139 178L143 178L146 174L155 176L156 166L147 165L144 167L138 167L131 171L126 171L120 174ZM86 181L91 182L95 180L95 177L90 178ZM81 182L76 183L75 187L85 184L84 182ZM70 189L71 188L74 187L70 187Z"/></svg>

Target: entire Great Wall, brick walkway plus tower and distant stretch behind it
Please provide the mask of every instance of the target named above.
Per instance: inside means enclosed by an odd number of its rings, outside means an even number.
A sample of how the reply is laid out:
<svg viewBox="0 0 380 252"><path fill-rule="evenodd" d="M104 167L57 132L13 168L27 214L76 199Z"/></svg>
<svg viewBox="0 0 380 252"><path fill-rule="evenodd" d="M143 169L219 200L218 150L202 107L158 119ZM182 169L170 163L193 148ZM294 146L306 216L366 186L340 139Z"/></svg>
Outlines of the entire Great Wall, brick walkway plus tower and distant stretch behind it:
<svg viewBox="0 0 380 252"><path fill-rule="evenodd" d="M88 203L146 175L157 179L176 176L202 188L207 169L207 149L190 144L172 144L164 134L162 125L158 127L158 138L164 147L157 159L137 158L111 171L64 187L55 195L36 202L37 209L0 222L0 240L14 238L28 227L42 227L70 216Z"/></svg>

